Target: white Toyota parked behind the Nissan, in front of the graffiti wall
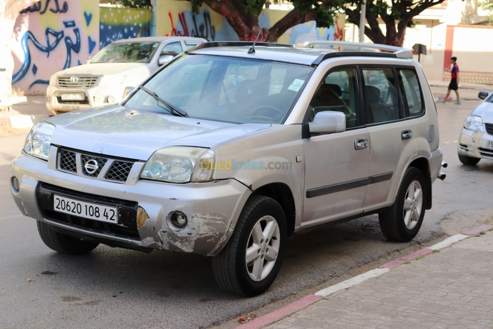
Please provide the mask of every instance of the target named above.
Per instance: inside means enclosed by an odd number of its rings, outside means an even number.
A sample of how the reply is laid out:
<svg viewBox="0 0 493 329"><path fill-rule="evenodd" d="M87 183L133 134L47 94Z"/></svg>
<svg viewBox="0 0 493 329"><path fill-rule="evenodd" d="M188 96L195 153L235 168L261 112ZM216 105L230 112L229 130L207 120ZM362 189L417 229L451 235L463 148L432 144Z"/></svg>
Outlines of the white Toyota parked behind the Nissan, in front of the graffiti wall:
<svg viewBox="0 0 493 329"><path fill-rule="evenodd" d="M145 37L114 41L87 64L51 76L46 107L53 114L118 103L126 87L136 87L173 57L207 40Z"/></svg>

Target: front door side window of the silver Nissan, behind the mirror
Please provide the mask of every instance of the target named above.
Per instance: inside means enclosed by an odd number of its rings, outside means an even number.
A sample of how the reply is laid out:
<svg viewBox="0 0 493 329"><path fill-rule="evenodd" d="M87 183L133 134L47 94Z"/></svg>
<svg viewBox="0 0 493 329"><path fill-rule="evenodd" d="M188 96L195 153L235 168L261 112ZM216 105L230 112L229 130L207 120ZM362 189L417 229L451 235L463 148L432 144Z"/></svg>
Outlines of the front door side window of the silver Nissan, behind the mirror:
<svg viewBox="0 0 493 329"><path fill-rule="evenodd" d="M360 125L356 70L348 68L329 73L312 99L310 111L310 121L318 112L338 111L346 114L346 127Z"/></svg>

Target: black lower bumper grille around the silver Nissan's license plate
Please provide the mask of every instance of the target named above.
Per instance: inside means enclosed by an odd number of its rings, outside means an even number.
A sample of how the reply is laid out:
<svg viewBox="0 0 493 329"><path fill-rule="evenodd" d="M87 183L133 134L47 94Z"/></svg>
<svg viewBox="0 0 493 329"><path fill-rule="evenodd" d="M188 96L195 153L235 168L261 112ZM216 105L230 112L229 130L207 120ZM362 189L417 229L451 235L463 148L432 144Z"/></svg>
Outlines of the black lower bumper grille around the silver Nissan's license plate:
<svg viewBox="0 0 493 329"><path fill-rule="evenodd" d="M118 208L118 224L102 222L55 211L53 208L53 194L85 202L115 206ZM41 212L47 219L64 223L69 226L82 228L86 231L103 233L106 235L129 238L133 240L141 240L137 230L137 208L139 205L136 202L110 199L92 194L76 192L46 183L40 183L37 186L36 196Z"/></svg>

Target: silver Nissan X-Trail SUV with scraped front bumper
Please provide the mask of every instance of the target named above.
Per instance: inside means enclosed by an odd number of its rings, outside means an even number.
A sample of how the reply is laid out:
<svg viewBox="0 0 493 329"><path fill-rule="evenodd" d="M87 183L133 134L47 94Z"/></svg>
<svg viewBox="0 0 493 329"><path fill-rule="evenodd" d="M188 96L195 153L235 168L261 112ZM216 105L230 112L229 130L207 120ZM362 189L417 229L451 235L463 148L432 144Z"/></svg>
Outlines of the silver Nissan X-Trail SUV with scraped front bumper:
<svg viewBox="0 0 493 329"><path fill-rule="evenodd" d="M305 228L378 213L388 239L418 233L444 175L412 57L342 41L200 44L119 105L36 124L12 196L56 251L200 253L222 288L261 293Z"/></svg>

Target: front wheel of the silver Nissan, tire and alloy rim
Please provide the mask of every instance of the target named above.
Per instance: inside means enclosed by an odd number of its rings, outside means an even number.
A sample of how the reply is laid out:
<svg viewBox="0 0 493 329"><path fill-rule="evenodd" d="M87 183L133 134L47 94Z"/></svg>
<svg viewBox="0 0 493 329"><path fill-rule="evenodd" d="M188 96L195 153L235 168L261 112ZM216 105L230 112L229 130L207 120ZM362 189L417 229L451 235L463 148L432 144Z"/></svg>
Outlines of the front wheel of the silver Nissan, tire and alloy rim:
<svg viewBox="0 0 493 329"><path fill-rule="evenodd" d="M287 229L274 199L252 196L228 244L212 258L217 284L229 292L254 296L267 290L281 269Z"/></svg>

